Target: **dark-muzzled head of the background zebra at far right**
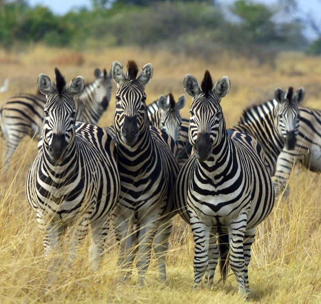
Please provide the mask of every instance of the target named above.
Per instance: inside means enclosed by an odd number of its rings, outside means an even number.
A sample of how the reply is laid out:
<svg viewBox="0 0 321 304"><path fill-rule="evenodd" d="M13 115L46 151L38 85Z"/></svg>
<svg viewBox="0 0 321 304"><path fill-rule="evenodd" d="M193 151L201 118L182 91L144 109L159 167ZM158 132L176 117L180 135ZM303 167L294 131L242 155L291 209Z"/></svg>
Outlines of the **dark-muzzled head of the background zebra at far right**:
<svg viewBox="0 0 321 304"><path fill-rule="evenodd" d="M277 102L278 131L287 150L293 150L297 142L300 118L299 103L303 101L304 95L304 88L299 88L296 92L293 91L292 87L289 87L286 92L276 88L274 92L274 100Z"/></svg>

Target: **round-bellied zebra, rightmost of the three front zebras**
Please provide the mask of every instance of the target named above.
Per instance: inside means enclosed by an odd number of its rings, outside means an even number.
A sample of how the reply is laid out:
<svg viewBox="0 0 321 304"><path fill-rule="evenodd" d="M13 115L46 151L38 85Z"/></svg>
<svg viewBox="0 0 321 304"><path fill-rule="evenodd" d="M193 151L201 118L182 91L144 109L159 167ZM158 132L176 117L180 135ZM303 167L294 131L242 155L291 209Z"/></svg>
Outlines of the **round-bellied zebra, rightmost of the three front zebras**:
<svg viewBox="0 0 321 304"><path fill-rule="evenodd" d="M249 135L226 130L220 101L230 90L227 76L220 78L213 90L207 70L201 87L188 74L184 87L193 97L188 135L195 153L178 173L174 203L181 217L191 225L194 236L193 289L205 272L209 284L213 284L219 256L225 280L230 248L230 267L239 290L250 295L247 267L255 227L274 205L264 152Z"/></svg>

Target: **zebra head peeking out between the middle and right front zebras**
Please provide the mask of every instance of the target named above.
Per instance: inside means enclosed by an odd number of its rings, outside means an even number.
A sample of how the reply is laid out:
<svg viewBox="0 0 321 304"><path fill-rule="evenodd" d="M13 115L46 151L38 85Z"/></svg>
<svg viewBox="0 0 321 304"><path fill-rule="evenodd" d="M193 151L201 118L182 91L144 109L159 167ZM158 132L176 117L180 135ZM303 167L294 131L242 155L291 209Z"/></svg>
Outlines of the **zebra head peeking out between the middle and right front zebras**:
<svg viewBox="0 0 321 304"><path fill-rule="evenodd" d="M183 94L175 103L171 93L167 96L160 95L157 105L162 110L160 114L159 128L165 130L174 140L178 141L181 129L182 117L179 110L186 104L186 96Z"/></svg>

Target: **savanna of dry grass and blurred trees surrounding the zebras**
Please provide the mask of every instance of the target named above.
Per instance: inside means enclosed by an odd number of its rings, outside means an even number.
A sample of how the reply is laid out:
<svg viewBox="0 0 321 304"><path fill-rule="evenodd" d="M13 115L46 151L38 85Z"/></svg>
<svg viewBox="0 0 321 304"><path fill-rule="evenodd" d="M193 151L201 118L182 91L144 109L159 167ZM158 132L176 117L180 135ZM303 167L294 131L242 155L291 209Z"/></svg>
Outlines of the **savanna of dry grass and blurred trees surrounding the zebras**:
<svg viewBox="0 0 321 304"><path fill-rule="evenodd" d="M146 85L147 103L171 92L184 94L183 80L199 82L208 69L215 82L229 76L230 93L221 101L227 126L237 123L244 108L273 98L274 89L304 87L304 105L321 108L321 22L295 17L296 1L274 6L238 0L228 14L216 1L92 1L91 9L57 16L48 7L26 1L0 1L0 83L9 78L4 100L16 93L36 93L39 73L54 79L54 68L67 83L81 75L94 80L94 69L110 69L114 60L138 67L152 63ZM277 18L278 16L286 18ZM318 27L318 25L320 25ZM307 27L315 38L306 37ZM100 126L112 124L112 98ZM188 118L191 97L182 109ZM4 139L0 138L0 149ZM42 236L25 198L25 179L37 143L22 141L8 171L0 171L0 303L240 303L234 274L223 284L217 271L213 288L192 291L194 243L190 229L175 218L167 255L168 282L157 279L155 259L146 286L137 273L119 283L117 246L108 238L100 270L88 265L88 242L72 269L61 267L50 289ZM0 153L1 153L0 151ZM321 302L320 175L295 166L290 195L278 197L270 216L257 227L249 278L253 303Z"/></svg>

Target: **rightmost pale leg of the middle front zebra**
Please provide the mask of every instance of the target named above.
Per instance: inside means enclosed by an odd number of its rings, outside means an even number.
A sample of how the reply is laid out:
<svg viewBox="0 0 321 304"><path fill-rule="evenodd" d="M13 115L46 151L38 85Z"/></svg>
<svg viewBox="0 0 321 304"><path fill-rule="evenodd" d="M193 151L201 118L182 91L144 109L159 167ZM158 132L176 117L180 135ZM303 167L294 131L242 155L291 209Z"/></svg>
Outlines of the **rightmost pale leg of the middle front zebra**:
<svg viewBox="0 0 321 304"><path fill-rule="evenodd" d="M172 232L172 220L166 220L160 224L155 236L154 253L158 263L160 282L166 282L166 252L169 247L169 236Z"/></svg>

